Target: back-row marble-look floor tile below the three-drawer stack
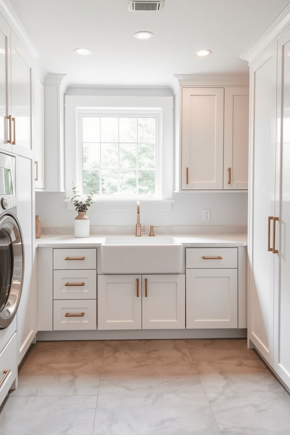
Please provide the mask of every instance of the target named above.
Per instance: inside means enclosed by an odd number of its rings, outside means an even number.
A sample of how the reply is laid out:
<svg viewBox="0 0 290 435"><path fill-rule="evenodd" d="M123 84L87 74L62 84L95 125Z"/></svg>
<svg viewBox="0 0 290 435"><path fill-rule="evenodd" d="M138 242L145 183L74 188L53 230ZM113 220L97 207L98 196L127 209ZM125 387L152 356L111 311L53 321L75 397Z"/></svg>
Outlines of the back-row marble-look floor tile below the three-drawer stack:
<svg viewBox="0 0 290 435"><path fill-rule="evenodd" d="M67 364L102 361L104 341L44 341L38 342L25 364Z"/></svg>

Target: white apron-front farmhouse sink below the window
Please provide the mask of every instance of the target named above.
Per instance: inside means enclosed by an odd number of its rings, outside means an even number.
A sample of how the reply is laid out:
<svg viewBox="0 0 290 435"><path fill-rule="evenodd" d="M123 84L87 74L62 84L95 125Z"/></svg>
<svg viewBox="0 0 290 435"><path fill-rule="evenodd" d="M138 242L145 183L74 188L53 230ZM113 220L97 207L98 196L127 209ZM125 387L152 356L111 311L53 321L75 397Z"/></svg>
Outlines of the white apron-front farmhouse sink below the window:
<svg viewBox="0 0 290 435"><path fill-rule="evenodd" d="M101 244L103 273L178 273L183 245L173 237L107 237Z"/></svg>

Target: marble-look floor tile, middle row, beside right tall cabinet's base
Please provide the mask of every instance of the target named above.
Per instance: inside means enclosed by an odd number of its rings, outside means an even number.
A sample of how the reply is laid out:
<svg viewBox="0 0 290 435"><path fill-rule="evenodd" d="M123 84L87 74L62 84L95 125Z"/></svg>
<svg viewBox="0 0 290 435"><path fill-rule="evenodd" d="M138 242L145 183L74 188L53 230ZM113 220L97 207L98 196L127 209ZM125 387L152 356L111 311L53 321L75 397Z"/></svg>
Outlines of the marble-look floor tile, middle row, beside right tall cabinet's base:
<svg viewBox="0 0 290 435"><path fill-rule="evenodd" d="M285 391L260 360L195 361L206 393Z"/></svg>

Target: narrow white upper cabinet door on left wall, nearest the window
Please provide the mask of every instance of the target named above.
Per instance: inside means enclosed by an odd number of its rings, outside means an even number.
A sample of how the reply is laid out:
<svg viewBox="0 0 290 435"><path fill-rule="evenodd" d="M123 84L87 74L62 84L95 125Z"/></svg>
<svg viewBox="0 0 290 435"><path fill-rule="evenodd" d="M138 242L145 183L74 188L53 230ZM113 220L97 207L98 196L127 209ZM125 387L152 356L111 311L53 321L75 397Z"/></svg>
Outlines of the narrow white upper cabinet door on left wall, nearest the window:
<svg viewBox="0 0 290 435"><path fill-rule="evenodd" d="M44 85L34 77L34 187L44 189Z"/></svg>

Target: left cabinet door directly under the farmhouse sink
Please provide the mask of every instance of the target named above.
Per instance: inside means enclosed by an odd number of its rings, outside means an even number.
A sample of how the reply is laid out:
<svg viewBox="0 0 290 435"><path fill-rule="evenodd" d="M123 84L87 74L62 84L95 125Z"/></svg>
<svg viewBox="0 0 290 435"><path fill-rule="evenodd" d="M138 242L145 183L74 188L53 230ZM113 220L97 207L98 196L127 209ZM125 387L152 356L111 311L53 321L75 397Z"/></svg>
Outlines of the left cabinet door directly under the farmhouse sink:
<svg viewBox="0 0 290 435"><path fill-rule="evenodd" d="M141 275L98 275L98 329L141 329Z"/></svg>

